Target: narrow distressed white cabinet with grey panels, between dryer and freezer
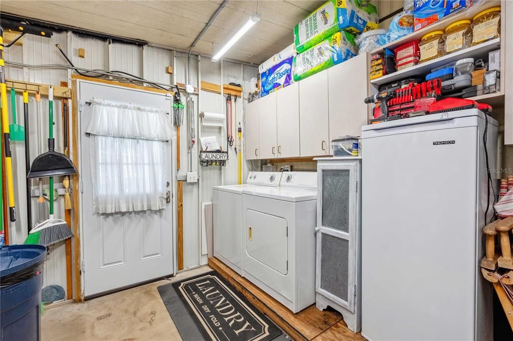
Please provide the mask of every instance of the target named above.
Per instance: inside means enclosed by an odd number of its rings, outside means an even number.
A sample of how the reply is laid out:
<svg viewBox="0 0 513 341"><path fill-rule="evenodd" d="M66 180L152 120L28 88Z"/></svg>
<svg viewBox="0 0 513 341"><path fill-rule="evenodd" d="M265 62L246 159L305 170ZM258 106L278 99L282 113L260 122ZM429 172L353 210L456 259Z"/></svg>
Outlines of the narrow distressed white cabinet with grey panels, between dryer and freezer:
<svg viewBox="0 0 513 341"><path fill-rule="evenodd" d="M361 328L360 157L317 158L315 300L339 311L349 329Z"/></svg>

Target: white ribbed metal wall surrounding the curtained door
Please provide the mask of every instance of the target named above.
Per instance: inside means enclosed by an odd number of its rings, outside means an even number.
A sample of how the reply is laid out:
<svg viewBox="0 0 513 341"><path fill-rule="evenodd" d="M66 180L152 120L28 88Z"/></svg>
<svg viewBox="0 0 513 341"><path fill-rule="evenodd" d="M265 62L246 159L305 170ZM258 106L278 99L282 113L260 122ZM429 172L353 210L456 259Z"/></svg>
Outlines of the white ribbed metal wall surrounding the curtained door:
<svg viewBox="0 0 513 341"><path fill-rule="evenodd" d="M171 84L173 75L167 73L167 67L173 66L175 81L179 83L186 83L187 81L187 54L176 52L175 61L173 63L173 52L168 49L151 47L151 46L137 46L124 43L108 44L107 41L96 39L89 36L78 34L71 34L69 32L55 33L50 39L43 37L36 37L27 35L24 37L23 46L13 46L5 50L6 61L18 62L30 65L43 65L43 64L61 64L66 65L67 62L61 53L56 49L55 44L59 44L63 51L70 54L73 64L77 67L87 69L108 69L118 70L135 74L147 78L152 81ZM85 57L78 57L78 49L85 49ZM201 64L201 72L199 73L199 64ZM257 67L248 65L241 66L239 63L223 63L223 76L221 76L221 62L212 63L210 58L204 57L201 63L198 62L198 56L192 55L190 62L190 79L189 84L194 87L199 85L199 77L203 81L223 84L229 83L233 80L243 84L244 81L249 81L251 77L257 75ZM62 81L69 81L68 71L60 68L17 68L7 66L6 74L8 78L25 80L29 82L60 85ZM186 101L187 95L183 93L183 101ZM201 201L207 202L211 200L212 186L221 184L234 184L237 181L237 167L236 154L234 151L230 152L230 161L227 167L221 170L221 167L207 167L198 170L198 125L202 129L202 136L216 135L220 143L221 141L220 129L202 128L201 122L198 120L199 111L209 112L225 112L225 101L220 94L215 94L207 91L201 91L200 97L192 95L194 101L194 117L195 117L195 134L196 143L192 149L192 171L199 171L201 178L198 184L187 184L184 182L184 267L193 268L201 264L206 264L207 257L201 255L201 229L200 229L200 189L201 186ZM200 108L198 108L200 102ZM17 96L18 108L22 107L22 96ZM242 117L243 101L237 102L237 112L239 117ZM43 127L44 137L48 136L48 115L47 107L48 101L42 99L43 110ZM31 159L37 155L36 144L36 130L35 130L35 103L33 97L30 97L30 112L31 112ZM23 123L23 114L18 109L18 123ZM200 110L198 110L200 109ZM54 103L54 135L56 136L56 150L62 150L62 119L61 119L61 103L55 101ZM235 126L235 124L234 124ZM188 171L188 123L186 116L184 123L181 127L181 169L177 173L179 178L183 178ZM226 134L224 134L226 137ZM33 142L32 142L33 141ZM23 243L27 236L26 217L24 212L25 207L25 152L24 143L17 143L13 145L13 162L14 172L18 174L16 177L17 183L15 185L15 198L18 208L18 220L10 227L11 243ZM46 144L43 146L43 151L46 149ZM223 174L223 175L222 175ZM223 176L223 178L222 178ZM244 176L245 178L245 176ZM56 180L56 187L62 187L62 179ZM47 188L47 181L44 182ZM32 183L33 190L37 189L37 181ZM37 219L36 197L33 196L33 218ZM64 200L63 197L58 197L55 202L56 216L64 216ZM64 243L57 244L54 250L50 252L45 263L45 280L44 285L56 284L66 288L66 265L65 265L65 247Z"/></svg>

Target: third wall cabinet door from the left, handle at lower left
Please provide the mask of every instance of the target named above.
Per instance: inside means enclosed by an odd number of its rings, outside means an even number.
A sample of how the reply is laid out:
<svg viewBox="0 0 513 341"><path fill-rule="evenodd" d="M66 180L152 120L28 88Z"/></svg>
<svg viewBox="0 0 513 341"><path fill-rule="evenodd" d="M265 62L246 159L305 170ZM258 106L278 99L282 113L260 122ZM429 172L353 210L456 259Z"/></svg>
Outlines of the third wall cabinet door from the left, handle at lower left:
<svg viewBox="0 0 513 341"><path fill-rule="evenodd" d="M276 92L278 157L299 154L299 83Z"/></svg>

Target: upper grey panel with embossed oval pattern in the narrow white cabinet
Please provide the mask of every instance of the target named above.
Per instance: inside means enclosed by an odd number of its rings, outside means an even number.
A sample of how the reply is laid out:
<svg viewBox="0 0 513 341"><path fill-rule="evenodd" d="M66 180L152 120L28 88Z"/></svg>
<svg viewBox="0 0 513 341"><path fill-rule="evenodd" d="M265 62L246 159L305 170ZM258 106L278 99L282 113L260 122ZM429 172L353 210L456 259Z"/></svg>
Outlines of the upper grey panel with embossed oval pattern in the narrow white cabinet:
<svg viewBox="0 0 513 341"><path fill-rule="evenodd" d="M349 170L322 171L322 226L349 232Z"/></svg>

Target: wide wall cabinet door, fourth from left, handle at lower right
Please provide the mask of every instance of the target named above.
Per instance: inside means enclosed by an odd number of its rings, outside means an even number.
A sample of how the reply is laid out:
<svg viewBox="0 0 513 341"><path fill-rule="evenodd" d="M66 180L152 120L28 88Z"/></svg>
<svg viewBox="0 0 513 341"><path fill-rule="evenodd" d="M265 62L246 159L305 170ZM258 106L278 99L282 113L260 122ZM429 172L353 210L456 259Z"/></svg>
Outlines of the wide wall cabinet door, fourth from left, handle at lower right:
<svg viewBox="0 0 513 341"><path fill-rule="evenodd" d="M328 73L321 71L299 82L301 156L329 153Z"/></svg>

